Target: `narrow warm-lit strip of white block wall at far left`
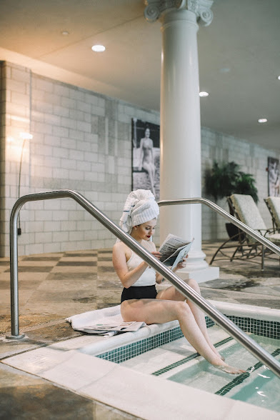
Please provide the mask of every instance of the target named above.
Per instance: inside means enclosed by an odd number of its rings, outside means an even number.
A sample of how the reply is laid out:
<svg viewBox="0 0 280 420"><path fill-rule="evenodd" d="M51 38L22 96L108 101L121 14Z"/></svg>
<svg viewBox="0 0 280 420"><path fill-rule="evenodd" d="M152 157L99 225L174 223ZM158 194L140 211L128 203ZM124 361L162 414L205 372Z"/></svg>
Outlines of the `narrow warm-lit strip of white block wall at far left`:
<svg viewBox="0 0 280 420"><path fill-rule="evenodd" d="M0 204L0 255L9 255L9 216L18 196L19 162L22 154L20 194L29 192L30 144L21 138L30 126L30 82L31 71L21 66L1 62L1 157L0 174L6 185L1 186ZM6 108L6 109L5 109ZM10 189L6 189L9 186ZM28 211L21 211L21 227L26 227ZM27 219L26 219L27 218ZM28 243L29 236L22 240ZM32 239L31 239L32 240Z"/></svg>

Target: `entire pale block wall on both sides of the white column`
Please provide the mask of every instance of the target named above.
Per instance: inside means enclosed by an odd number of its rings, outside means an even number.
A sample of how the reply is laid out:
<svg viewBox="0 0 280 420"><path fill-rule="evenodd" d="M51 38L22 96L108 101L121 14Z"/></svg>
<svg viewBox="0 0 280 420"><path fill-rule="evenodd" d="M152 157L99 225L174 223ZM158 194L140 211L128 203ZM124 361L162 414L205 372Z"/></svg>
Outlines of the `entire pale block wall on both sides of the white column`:
<svg viewBox="0 0 280 420"><path fill-rule="evenodd" d="M74 189L119 223L131 191L134 117L159 124L156 111L1 63L1 256L9 255L9 215L18 197L21 131L31 131L33 139L24 146L20 195ZM214 160L236 161L253 174L261 213L270 220L262 199L267 196L267 156L279 157L274 151L203 128L201 154L203 176ZM115 240L71 199L26 204L21 230L19 254L111 247ZM203 239L223 238L224 220L204 208L202 231Z"/></svg>

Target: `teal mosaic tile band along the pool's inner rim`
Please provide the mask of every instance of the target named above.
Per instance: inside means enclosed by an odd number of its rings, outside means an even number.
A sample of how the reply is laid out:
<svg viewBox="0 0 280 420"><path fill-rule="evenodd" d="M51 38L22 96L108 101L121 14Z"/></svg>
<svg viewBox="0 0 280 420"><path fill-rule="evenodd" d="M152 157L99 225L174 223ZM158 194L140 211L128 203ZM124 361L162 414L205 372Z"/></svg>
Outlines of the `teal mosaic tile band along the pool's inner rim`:
<svg viewBox="0 0 280 420"><path fill-rule="evenodd" d="M256 335L266 336L272 339L280 339L280 322L261 321L259 319L244 318L241 316L233 315L226 316L245 332L251 332ZM214 321L212 321L209 316L205 317L205 321L207 328L215 325ZM99 359L113 361L114 363L121 363L123 361L132 359L133 357L139 356L140 354L146 353L146 351L156 349L159 346L171 343L171 341L181 339L182 337L183 333L181 332L180 327L177 326L174 329L164 331L162 333L156 334L155 336L136 341L135 343L126 344L126 346L121 346L117 349L106 351L102 354L98 354L96 357L99 357ZM188 359L186 361L191 360L189 357L194 359L197 357L197 354L195 353L191 356L188 356L185 358ZM184 363L186 363L186 361ZM156 372L154 372L154 374L156 374Z"/></svg>

